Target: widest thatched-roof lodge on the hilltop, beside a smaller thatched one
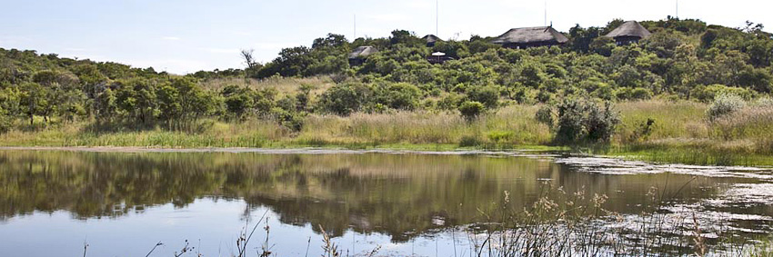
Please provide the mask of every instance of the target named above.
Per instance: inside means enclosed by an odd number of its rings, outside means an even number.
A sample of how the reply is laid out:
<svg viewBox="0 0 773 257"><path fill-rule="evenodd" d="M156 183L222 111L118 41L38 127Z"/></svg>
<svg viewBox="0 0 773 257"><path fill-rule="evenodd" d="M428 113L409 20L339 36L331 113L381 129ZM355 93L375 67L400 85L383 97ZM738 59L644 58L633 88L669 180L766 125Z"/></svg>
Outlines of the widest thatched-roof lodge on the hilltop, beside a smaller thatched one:
<svg viewBox="0 0 773 257"><path fill-rule="evenodd" d="M552 26L514 28L492 41L504 47L522 49L567 43L569 39Z"/></svg>

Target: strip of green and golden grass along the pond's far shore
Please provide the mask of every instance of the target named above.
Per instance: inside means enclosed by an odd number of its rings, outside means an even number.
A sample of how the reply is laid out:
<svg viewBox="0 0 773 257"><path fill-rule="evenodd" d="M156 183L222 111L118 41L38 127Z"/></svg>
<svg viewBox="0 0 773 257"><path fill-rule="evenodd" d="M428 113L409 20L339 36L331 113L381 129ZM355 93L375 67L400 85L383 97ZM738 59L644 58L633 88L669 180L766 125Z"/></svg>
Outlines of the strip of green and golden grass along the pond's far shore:
<svg viewBox="0 0 773 257"><path fill-rule="evenodd" d="M621 124L602 146L553 144L553 133L535 119L539 106L510 105L468 122L453 112L310 114L300 132L270 120L239 123L201 120L189 132L161 127L99 132L72 123L16 129L0 135L4 146L140 147L335 147L451 151L456 149L574 149L656 162L773 165L773 112L748 108L709 123L707 104L644 101L616 105ZM654 123L646 127L648 120Z"/></svg>

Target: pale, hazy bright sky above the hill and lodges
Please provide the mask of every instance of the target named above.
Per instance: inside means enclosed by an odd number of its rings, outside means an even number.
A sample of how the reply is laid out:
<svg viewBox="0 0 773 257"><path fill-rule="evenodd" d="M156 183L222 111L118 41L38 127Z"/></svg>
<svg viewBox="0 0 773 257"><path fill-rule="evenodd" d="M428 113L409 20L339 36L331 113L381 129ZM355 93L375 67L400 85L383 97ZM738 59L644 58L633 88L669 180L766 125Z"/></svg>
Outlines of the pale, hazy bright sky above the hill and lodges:
<svg viewBox="0 0 773 257"><path fill-rule="evenodd" d="M328 33L351 40L355 20L357 37L423 36L436 34L437 8L437 34L462 40L545 25L546 5L547 24L564 32L677 15L677 0L0 0L0 47L187 74L242 68L240 49L266 63ZM678 1L678 17L730 27L773 27L771 9L770 0Z"/></svg>

